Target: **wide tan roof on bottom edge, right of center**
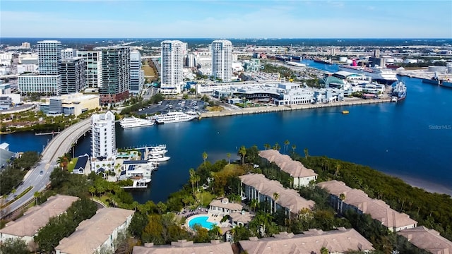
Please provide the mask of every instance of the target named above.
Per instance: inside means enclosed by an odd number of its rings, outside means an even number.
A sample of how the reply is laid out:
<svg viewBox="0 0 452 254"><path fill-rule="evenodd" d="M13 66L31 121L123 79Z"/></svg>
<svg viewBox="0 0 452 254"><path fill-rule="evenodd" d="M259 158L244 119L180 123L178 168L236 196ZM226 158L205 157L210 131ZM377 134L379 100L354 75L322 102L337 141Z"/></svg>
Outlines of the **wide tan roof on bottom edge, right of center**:
<svg viewBox="0 0 452 254"><path fill-rule="evenodd" d="M239 246L249 254L321 253L322 247L328 248L329 253L374 250L372 244L355 229L344 228L333 231L310 229L297 235L282 232L273 237L253 237L249 241L239 241Z"/></svg>

